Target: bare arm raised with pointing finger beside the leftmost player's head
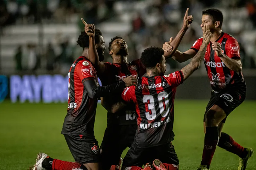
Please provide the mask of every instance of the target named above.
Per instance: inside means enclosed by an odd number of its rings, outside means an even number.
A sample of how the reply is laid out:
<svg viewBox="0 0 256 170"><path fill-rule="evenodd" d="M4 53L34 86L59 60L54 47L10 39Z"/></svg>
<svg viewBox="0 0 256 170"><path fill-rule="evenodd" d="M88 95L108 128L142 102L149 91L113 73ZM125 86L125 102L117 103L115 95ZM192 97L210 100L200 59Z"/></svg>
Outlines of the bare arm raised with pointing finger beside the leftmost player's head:
<svg viewBox="0 0 256 170"><path fill-rule="evenodd" d="M101 74L105 71L105 65L103 62L99 61L98 52L95 44L95 26L93 24L87 24L83 18L81 18L85 25L85 32L89 36L89 57L88 59L91 61L93 66L95 67L98 74Z"/></svg>

